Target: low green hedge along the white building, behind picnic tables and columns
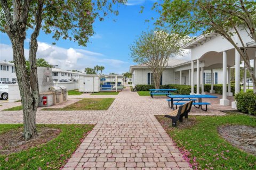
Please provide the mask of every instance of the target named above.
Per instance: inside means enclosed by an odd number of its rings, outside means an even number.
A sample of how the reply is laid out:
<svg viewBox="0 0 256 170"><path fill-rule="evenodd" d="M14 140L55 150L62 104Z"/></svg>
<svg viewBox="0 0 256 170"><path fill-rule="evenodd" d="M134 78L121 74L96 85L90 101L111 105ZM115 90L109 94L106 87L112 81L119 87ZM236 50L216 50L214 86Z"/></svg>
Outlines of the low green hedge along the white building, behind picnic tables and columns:
<svg viewBox="0 0 256 170"><path fill-rule="evenodd" d="M137 91L149 91L149 89L155 89L155 85L147 85L147 84L137 84ZM160 86L160 89L177 89L177 93L180 95L189 95L191 92L191 86L189 85L181 85L181 84L166 84ZM228 89L228 86L227 86ZM240 87L241 89L241 87ZM204 91L210 92L211 84L204 84ZM215 90L216 94L222 95L222 84L214 84L213 90ZM230 85L230 90L235 94L235 84ZM196 85L194 86L194 92L196 92ZM200 88L201 92L201 88Z"/></svg>

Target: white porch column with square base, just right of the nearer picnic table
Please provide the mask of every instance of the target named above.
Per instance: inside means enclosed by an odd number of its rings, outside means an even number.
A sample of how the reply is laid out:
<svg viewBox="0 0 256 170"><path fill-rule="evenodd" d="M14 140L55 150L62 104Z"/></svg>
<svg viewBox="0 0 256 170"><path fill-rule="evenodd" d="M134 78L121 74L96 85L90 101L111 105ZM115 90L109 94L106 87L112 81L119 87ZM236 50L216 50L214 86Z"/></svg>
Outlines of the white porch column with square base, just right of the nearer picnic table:
<svg viewBox="0 0 256 170"><path fill-rule="evenodd" d="M220 105L229 106L229 100L227 99L227 52L223 52L223 83L222 83L222 99L220 99Z"/></svg>

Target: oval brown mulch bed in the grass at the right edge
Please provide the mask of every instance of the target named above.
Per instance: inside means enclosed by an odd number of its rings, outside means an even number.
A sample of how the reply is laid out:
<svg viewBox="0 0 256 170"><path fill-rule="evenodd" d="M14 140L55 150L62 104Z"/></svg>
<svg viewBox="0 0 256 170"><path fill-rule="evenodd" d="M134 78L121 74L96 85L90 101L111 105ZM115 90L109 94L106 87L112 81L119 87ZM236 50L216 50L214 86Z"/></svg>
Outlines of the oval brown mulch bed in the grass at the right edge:
<svg viewBox="0 0 256 170"><path fill-rule="evenodd" d="M218 131L231 145L256 156L256 128L244 125L221 126Z"/></svg>

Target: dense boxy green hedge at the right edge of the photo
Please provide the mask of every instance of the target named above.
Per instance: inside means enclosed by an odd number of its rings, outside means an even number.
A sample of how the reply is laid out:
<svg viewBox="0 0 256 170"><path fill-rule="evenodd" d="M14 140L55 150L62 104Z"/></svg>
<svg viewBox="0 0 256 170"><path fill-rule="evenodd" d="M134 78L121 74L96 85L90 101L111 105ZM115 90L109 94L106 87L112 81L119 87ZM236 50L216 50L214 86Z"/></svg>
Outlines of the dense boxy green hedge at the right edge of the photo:
<svg viewBox="0 0 256 170"><path fill-rule="evenodd" d="M236 107L243 113L256 115L256 94L252 91L239 92L235 96Z"/></svg>

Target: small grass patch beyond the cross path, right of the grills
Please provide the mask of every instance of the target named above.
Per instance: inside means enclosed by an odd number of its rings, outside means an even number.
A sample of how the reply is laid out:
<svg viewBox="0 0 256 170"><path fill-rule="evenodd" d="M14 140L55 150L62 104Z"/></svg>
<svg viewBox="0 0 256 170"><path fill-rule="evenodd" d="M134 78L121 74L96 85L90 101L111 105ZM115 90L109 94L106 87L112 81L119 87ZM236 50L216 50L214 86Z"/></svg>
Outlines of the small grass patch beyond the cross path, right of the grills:
<svg viewBox="0 0 256 170"><path fill-rule="evenodd" d="M41 111L105 111L115 98L82 99L63 108L43 108Z"/></svg>

